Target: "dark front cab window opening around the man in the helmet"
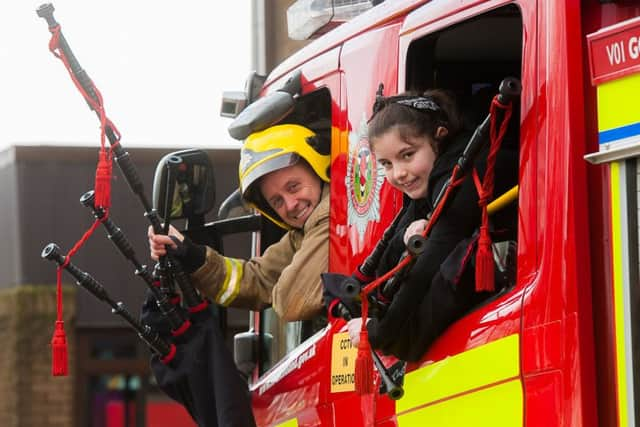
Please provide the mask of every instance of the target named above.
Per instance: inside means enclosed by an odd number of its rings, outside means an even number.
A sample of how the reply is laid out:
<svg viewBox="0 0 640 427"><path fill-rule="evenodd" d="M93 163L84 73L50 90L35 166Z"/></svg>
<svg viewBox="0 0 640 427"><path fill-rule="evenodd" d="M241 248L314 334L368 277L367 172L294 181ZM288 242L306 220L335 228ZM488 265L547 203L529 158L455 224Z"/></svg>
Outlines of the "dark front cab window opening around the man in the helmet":
<svg viewBox="0 0 640 427"><path fill-rule="evenodd" d="M322 154L331 153L331 94L327 88L321 88L297 98L294 110L280 123L294 123L308 127L318 136L314 148ZM264 223L264 228L261 230L261 251L263 252L270 244L280 240L284 234L281 228L269 221ZM327 324L325 316L305 321L285 322L272 309L264 310L260 316L260 324L263 326L262 336L268 337L267 339L271 341L270 346L263 346L271 350L269 355L261 358L261 374Z"/></svg>

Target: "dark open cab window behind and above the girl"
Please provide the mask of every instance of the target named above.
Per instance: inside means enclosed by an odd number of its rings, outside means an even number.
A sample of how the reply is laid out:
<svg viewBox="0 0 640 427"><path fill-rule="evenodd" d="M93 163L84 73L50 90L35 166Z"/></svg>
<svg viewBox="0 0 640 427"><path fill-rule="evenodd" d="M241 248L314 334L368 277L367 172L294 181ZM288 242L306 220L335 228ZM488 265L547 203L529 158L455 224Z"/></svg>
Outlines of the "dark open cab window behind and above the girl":
<svg viewBox="0 0 640 427"><path fill-rule="evenodd" d="M520 78L522 47L522 17L515 5L462 21L410 44L406 90L443 88L453 92L464 125L472 131L487 117L500 82L506 77ZM515 104L502 147L515 150L513 158L517 159L520 104ZM516 209L510 211L514 218L509 223L517 227ZM494 244L496 268L502 281L499 285L503 289L515 285L516 249L517 242L512 240Z"/></svg>

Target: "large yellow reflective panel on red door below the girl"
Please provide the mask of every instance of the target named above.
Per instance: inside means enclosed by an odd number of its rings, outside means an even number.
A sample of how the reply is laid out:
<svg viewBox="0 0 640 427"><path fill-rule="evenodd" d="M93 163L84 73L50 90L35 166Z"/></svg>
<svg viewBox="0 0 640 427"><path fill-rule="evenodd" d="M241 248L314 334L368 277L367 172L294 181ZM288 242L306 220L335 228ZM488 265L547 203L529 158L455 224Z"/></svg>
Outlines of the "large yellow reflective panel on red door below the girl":
<svg viewBox="0 0 640 427"><path fill-rule="evenodd" d="M408 373L398 425L521 426L519 342L514 334Z"/></svg>

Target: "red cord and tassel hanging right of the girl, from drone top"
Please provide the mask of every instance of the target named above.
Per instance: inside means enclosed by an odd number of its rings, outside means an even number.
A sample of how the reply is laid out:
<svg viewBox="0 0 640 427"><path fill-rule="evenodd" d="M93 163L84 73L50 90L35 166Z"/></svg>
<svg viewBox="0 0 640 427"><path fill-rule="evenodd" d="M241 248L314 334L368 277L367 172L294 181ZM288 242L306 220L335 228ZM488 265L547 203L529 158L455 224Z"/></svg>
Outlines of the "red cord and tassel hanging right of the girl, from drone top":
<svg viewBox="0 0 640 427"><path fill-rule="evenodd" d="M497 110L504 110L504 117L500 128L496 128ZM496 156L502 139L507 132L509 119L511 118L512 106L502 104L498 101L498 97L494 97L491 102L491 122L490 122L490 145L489 154L487 155L487 170L484 173L482 182L478 177L476 169L473 170L473 180L478 191L478 205L482 211L482 219L480 223L480 234L478 236L478 250L476 251L476 292L493 292L495 290L495 266L493 261L493 250L491 248L491 235L489 234L489 213L487 205L493 198L493 188L495 184L495 165Z"/></svg>

